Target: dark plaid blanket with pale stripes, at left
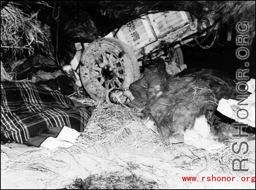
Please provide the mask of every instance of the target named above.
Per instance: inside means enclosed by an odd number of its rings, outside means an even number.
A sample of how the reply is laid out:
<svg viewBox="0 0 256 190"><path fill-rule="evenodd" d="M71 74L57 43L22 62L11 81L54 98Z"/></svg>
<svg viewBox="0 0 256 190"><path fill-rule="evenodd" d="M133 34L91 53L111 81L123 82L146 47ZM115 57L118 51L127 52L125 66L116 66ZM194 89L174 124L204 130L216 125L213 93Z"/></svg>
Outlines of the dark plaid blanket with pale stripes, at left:
<svg viewBox="0 0 256 190"><path fill-rule="evenodd" d="M85 108L75 108L59 92L31 82L1 81L1 142L39 147L48 136L59 135L64 126L83 132L88 119Z"/></svg>

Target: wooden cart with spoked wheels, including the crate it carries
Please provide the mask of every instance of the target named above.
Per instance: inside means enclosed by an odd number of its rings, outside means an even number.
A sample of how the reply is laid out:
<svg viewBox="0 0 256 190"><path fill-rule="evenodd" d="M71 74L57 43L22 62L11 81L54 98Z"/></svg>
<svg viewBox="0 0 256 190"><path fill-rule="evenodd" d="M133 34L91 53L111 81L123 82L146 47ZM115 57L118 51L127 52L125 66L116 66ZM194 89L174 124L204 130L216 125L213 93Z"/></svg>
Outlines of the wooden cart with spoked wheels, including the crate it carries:
<svg viewBox="0 0 256 190"><path fill-rule="evenodd" d="M107 90L128 88L138 80L138 60L156 52L161 55L159 52L166 44L176 44L171 59L182 65L182 52L176 42L195 32L196 23L183 11L155 13L133 20L86 47L80 60L82 84L94 100L103 101Z"/></svg>

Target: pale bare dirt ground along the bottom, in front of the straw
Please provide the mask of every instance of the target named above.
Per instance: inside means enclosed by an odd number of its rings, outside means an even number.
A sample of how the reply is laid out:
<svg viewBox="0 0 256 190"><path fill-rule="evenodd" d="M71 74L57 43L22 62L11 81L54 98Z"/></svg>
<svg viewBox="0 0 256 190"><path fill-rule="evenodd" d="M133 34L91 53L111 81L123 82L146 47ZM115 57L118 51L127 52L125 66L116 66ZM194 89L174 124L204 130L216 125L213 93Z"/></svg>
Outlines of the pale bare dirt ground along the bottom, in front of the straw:
<svg viewBox="0 0 256 190"><path fill-rule="evenodd" d="M41 153L52 154L51 151L43 151ZM235 179L237 180L234 180L234 182L207 182L206 180L202 182L202 177L211 177L212 175L215 177L227 177L228 175L215 175L214 171L202 171L203 168L200 167L192 167L191 170L175 167L172 163L162 162L161 158L133 155L131 153L118 155L117 160L114 158L115 154L118 153L112 152L108 158L103 156L99 158L90 153L70 154L68 150L61 150L54 155L54 158L63 160L63 163L54 166L54 172L25 169L1 171L1 189L60 189L78 177L83 179L91 174L99 174L106 171L123 172L128 167L125 162L134 162L134 160L136 160L138 168L131 168L129 172L142 176L144 179L158 182L159 189L255 189L255 183L242 182L240 177L236 177ZM2 159L4 158L6 157L1 155L1 168ZM47 160L45 161L47 162ZM46 163L45 165L47 166L48 164ZM197 181L182 181L182 177L190 176L196 176Z"/></svg>

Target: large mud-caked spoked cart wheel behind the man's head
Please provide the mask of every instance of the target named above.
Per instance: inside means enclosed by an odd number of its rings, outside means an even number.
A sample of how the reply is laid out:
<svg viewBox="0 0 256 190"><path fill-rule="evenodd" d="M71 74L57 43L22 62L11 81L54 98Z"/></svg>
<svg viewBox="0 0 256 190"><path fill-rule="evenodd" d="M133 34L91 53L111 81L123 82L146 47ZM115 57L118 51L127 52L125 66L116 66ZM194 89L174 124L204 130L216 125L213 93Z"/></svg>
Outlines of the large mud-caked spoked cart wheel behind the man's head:
<svg viewBox="0 0 256 190"><path fill-rule="evenodd" d="M139 76L135 54L118 39L97 39L82 54L80 79L95 101L105 100L105 93L111 88L128 88Z"/></svg>

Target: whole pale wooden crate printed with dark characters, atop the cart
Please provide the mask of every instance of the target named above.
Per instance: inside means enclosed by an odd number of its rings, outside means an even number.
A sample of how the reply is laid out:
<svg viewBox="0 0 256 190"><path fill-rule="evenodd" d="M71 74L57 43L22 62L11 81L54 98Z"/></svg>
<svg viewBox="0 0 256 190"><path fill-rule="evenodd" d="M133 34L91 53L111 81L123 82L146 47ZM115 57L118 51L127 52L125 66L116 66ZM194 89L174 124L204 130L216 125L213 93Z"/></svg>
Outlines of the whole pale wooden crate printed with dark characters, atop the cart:
<svg viewBox="0 0 256 190"><path fill-rule="evenodd" d="M189 24L190 17L184 11L169 11L149 14L123 25L116 38L126 43L135 52L159 38ZM105 37L113 37L114 30Z"/></svg>

